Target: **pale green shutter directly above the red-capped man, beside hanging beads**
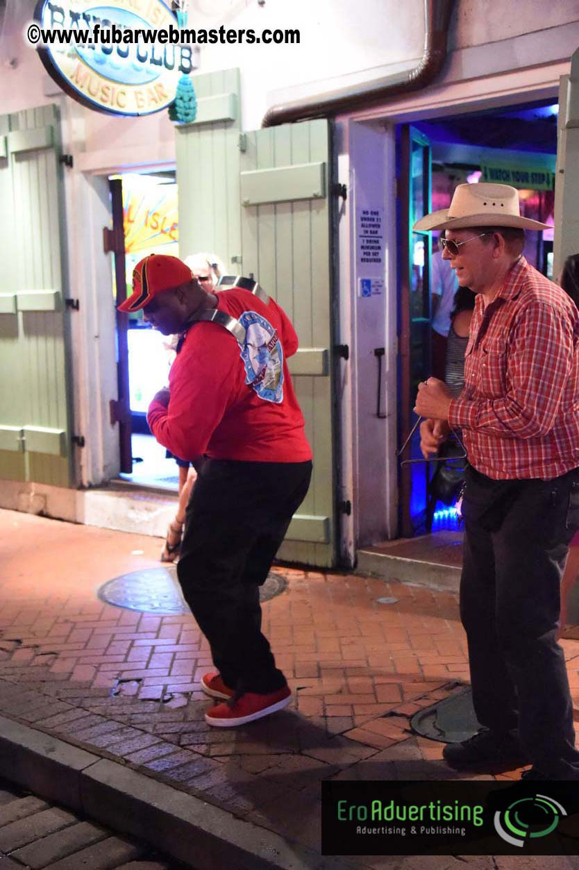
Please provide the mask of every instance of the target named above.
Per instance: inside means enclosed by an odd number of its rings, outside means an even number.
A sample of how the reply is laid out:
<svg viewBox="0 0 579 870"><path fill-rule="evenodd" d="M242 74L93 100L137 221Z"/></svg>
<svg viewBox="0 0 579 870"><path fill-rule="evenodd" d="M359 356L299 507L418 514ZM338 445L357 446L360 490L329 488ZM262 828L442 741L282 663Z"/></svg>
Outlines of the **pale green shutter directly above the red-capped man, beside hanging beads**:
<svg viewBox="0 0 579 870"><path fill-rule="evenodd" d="M197 117L176 125L179 254L208 251L240 271L239 70L193 76Z"/></svg>

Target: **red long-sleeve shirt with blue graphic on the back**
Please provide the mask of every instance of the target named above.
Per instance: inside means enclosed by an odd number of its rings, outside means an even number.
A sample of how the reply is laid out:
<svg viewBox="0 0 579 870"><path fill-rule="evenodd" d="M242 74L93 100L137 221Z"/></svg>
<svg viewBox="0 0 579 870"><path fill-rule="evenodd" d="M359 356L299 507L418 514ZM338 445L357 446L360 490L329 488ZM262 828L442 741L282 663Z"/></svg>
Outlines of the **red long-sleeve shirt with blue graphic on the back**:
<svg viewBox="0 0 579 870"><path fill-rule="evenodd" d="M286 361L297 350L289 318L274 299L266 305L249 291L216 295L218 310L245 325L245 344L222 325L192 325L171 366L169 407L150 404L151 432L182 459L310 459Z"/></svg>

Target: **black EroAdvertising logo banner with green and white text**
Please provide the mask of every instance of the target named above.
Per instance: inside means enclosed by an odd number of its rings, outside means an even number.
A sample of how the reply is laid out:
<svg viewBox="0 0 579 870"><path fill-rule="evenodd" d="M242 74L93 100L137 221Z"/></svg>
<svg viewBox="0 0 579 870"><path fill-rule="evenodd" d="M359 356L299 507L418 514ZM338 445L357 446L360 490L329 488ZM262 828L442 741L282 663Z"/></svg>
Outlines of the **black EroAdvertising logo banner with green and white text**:
<svg viewBox="0 0 579 870"><path fill-rule="evenodd" d="M543 787L550 795L523 781L323 781L322 854L579 854L576 782Z"/></svg>

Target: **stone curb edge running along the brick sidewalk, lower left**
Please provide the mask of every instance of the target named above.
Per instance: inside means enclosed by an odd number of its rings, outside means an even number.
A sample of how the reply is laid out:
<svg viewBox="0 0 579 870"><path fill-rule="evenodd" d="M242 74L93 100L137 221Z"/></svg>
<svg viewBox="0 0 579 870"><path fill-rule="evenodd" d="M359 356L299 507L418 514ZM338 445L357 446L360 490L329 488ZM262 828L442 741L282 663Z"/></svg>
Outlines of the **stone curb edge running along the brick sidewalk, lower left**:
<svg viewBox="0 0 579 870"><path fill-rule="evenodd" d="M350 870L220 807L0 716L7 780L139 837L195 870Z"/></svg>

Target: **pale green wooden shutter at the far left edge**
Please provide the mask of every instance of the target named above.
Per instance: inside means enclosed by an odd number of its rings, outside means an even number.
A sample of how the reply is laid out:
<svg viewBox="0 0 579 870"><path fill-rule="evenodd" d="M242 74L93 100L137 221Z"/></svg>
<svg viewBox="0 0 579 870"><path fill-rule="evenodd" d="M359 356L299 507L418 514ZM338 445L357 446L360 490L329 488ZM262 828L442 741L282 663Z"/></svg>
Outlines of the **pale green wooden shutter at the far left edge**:
<svg viewBox="0 0 579 870"><path fill-rule="evenodd" d="M55 106L0 118L0 478L70 486Z"/></svg>

